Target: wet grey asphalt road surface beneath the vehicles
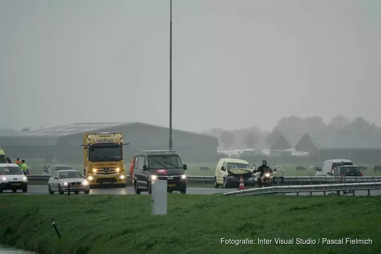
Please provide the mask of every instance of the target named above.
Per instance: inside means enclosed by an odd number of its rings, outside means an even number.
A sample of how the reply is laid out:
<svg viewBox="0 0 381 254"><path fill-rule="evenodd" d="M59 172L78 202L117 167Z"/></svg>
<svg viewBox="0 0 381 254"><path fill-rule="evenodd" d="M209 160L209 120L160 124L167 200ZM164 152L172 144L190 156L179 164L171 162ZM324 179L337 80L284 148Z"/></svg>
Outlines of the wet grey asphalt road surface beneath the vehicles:
<svg viewBox="0 0 381 254"><path fill-rule="evenodd" d="M194 188L188 187L186 189L186 194L201 194L201 195L212 195L212 194L223 194L228 192L234 192L237 189L224 189L224 188ZM18 190L17 193L21 194L21 190ZM4 190L4 194L12 194L10 190ZM113 194L113 195L128 195L134 193L134 188L129 186L125 188L101 188L101 189L90 189L90 195L96 194ZM342 194L342 193L341 193ZM13 194L14 195L14 194ZM48 187L46 185L28 185L28 192L26 195L48 195ZM55 195L58 195L55 193ZM74 194L73 194L74 195ZM83 193L81 195L84 195ZM148 195L147 192L142 192L142 195ZM296 196L296 193L285 194L287 196ZM307 193L299 193L299 196L309 196ZM313 196L323 196L321 193L312 193ZM327 192L328 196L329 193ZM352 196L353 194L347 194L347 196ZM358 190L356 196L367 196L368 192L366 190ZM381 190L371 190L371 196L381 196Z"/></svg>

